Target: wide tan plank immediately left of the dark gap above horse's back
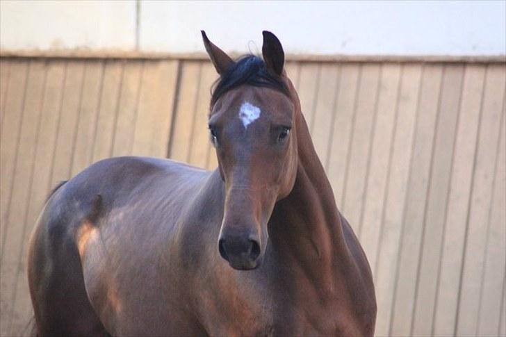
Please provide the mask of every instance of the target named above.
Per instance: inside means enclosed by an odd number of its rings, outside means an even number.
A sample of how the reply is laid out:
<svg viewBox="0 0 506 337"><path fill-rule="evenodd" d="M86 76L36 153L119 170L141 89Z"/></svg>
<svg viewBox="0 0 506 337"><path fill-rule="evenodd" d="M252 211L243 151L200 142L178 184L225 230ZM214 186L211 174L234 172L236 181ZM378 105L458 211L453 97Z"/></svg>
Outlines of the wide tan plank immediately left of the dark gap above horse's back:
<svg viewBox="0 0 506 337"><path fill-rule="evenodd" d="M167 156L177 61L147 62L140 87L132 154Z"/></svg>

